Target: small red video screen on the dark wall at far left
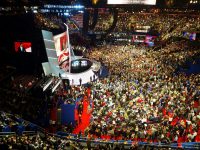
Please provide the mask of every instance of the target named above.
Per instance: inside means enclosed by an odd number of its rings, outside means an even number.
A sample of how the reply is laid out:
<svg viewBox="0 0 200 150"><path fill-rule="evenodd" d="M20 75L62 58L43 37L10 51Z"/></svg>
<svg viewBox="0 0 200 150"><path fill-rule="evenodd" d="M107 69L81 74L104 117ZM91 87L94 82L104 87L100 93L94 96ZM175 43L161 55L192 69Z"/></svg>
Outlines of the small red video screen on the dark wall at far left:
<svg viewBox="0 0 200 150"><path fill-rule="evenodd" d="M32 52L31 42L15 42L15 52Z"/></svg>

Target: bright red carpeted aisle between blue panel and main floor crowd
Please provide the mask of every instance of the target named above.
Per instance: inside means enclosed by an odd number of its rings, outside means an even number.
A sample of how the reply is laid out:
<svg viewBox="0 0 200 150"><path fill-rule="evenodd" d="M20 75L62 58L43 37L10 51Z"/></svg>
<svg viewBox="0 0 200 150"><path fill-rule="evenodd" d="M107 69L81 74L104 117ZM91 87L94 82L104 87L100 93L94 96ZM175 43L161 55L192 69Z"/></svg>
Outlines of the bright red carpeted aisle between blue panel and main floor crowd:
<svg viewBox="0 0 200 150"><path fill-rule="evenodd" d="M83 134L84 130L89 126L90 124L90 117L91 117L91 112L88 111L88 105L89 101L87 97L84 97L83 100L83 113L81 117L81 123L78 124L77 128L73 131L74 134L78 134L80 131ZM75 118L78 119L78 112L75 112Z"/></svg>

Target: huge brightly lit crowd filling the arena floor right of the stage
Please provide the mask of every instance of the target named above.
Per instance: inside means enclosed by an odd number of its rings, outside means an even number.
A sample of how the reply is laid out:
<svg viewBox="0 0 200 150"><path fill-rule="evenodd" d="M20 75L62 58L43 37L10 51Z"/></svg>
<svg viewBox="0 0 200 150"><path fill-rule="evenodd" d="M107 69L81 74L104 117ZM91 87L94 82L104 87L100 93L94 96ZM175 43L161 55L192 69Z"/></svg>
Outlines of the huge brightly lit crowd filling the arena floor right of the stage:
<svg viewBox="0 0 200 150"><path fill-rule="evenodd" d="M109 76L92 83L93 117L87 135L138 141L199 141L199 74L176 68L199 48L186 41L159 51L134 46L110 46L88 57L101 60Z"/></svg>

